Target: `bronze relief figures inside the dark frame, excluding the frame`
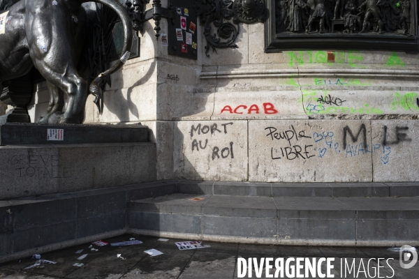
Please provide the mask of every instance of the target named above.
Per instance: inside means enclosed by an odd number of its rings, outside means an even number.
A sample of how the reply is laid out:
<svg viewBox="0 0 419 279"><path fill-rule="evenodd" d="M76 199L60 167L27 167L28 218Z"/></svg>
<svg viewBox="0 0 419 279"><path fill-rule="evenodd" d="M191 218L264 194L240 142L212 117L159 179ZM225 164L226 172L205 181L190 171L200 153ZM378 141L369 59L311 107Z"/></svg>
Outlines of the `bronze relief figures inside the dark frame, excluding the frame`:
<svg viewBox="0 0 419 279"><path fill-rule="evenodd" d="M411 6L411 0L276 0L277 33L411 36Z"/></svg>

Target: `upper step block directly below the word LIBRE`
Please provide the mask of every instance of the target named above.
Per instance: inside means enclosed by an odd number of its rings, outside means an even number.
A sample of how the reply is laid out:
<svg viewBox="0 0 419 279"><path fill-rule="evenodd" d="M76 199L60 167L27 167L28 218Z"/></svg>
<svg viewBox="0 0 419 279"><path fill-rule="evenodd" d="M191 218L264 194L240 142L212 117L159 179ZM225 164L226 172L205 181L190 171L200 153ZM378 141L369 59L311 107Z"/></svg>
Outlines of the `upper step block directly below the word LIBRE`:
<svg viewBox="0 0 419 279"><path fill-rule="evenodd" d="M332 197L328 183L272 183L272 197Z"/></svg>

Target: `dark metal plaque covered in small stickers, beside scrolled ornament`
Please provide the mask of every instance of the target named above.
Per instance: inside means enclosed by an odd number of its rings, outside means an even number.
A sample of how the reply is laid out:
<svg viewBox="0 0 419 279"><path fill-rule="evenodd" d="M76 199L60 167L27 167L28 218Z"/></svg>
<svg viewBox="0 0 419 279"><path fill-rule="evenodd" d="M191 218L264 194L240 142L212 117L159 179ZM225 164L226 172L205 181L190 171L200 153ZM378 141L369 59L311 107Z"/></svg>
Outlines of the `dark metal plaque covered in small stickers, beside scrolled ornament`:
<svg viewBox="0 0 419 279"><path fill-rule="evenodd" d="M168 53L189 59L198 59L198 17L193 3L187 0L170 0L175 17L169 20Z"/></svg>

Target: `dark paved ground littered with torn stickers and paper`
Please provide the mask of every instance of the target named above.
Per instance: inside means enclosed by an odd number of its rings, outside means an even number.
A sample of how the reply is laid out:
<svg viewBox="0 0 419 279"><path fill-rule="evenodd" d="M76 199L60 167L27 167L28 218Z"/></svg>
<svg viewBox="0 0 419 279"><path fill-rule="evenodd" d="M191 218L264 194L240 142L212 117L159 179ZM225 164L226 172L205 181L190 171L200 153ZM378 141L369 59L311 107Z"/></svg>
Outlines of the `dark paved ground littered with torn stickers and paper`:
<svg viewBox="0 0 419 279"><path fill-rule="evenodd" d="M237 243L216 243L203 241L209 244L210 248L197 250L179 250L175 245L178 241L193 241L194 239L170 239L167 242L158 241L158 237L138 236L126 234L112 239L104 239L109 243L128 241L131 238L138 239L143 243L134 246L112 247L93 246L98 251L91 251L91 243L74 246L63 250L45 253L42 259L47 259L57 264L41 264L32 269L24 269L36 262L36 259L20 259L0 265L0 278L7 279L50 279L50 278L86 278L86 279L118 279L118 278L237 278L237 257L254 257L260 260L262 257L335 257L335 268L332 275L335 278L378 278L374 273L378 269L377 258L394 258L380 260L380 278L419 278L419 263L411 269L402 269L399 265L399 253L387 250L387 248L333 248L316 246L265 246ZM163 252L163 255L152 257L145 253L145 250L156 249ZM83 251L80 254L75 252ZM88 254L82 260L77 258L80 255ZM118 258L121 254L124 259ZM369 269L367 263L369 259ZM358 277L354 273L344 273L340 269L341 259L346 259L352 264L355 259L355 269L361 270ZM84 264L82 267L73 266L76 262ZM362 272L362 264L368 273ZM391 268L390 268L391 266ZM322 265L325 272L326 266ZM392 269L394 271L392 271ZM275 269L272 271L274 275ZM304 274L304 272L302 272ZM280 274L279 274L280 276ZM249 278L248 274L245 278ZM252 269L252 277L257 278L255 270ZM260 278L266 278L263 270ZM292 278L284 275L284 278ZM311 278L311 277L309 277ZM317 278L317 277L315 277ZM318 277L320 278L320 277Z"/></svg>

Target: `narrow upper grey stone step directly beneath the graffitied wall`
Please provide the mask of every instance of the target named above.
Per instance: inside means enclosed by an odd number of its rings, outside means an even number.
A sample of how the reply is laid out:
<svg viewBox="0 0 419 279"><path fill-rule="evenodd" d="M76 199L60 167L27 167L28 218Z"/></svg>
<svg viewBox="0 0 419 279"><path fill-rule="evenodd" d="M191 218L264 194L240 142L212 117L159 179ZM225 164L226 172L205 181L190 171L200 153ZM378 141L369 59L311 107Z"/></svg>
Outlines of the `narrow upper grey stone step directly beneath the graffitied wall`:
<svg viewBox="0 0 419 279"><path fill-rule="evenodd" d="M177 193L259 197L415 197L419 182L404 183L251 183L178 181Z"/></svg>

